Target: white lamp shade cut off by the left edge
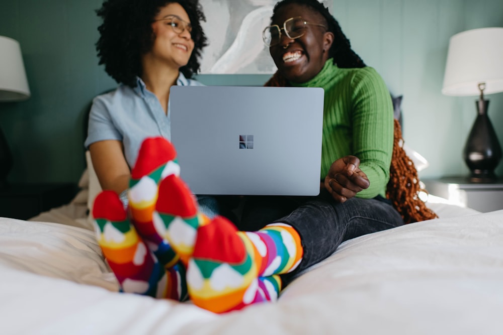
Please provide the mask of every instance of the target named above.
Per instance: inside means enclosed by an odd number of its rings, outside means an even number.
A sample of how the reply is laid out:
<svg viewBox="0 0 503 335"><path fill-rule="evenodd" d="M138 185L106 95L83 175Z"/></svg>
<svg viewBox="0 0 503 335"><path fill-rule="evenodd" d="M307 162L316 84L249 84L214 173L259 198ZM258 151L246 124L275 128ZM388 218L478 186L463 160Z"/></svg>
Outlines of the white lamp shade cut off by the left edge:
<svg viewBox="0 0 503 335"><path fill-rule="evenodd" d="M18 41L0 36L0 101L30 97L30 87Z"/></svg>

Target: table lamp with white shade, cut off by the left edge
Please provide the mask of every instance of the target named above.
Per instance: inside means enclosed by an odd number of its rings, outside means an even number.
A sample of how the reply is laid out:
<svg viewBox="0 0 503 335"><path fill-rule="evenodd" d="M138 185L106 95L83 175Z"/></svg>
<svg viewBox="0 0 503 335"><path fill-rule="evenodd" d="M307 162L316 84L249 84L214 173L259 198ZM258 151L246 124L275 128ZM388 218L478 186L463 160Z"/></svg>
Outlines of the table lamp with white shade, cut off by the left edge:
<svg viewBox="0 0 503 335"><path fill-rule="evenodd" d="M30 97L25 66L18 41L0 36L0 102L21 101ZM7 186L12 154L0 128L0 188Z"/></svg>

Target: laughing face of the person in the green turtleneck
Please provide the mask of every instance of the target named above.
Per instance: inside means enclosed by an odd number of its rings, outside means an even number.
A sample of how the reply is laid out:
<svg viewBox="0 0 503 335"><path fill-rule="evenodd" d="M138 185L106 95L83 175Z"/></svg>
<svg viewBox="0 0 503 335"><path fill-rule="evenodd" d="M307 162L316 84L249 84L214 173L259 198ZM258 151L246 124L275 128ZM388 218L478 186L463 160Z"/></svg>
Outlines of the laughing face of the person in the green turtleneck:
<svg viewBox="0 0 503 335"><path fill-rule="evenodd" d="M321 14L309 6L298 4L279 8L271 25L283 27L285 20L299 16L309 23L327 25ZM270 47L269 52L286 79L302 83L312 79L323 68L332 41L333 34L323 27L306 25L305 34L294 40L282 30L281 42Z"/></svg>

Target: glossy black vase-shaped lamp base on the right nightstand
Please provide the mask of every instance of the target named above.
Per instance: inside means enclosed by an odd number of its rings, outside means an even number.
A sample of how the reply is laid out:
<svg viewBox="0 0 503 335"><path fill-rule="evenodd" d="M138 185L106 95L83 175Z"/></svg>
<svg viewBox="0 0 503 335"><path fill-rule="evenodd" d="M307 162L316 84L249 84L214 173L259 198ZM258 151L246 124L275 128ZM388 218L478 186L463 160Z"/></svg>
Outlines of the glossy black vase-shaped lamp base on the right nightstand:
<svg viewBox="0 0 503 335"><path fill-rule="evenodd" d="M494 169L501 160L501 146L487 116L489 100L479 99L477 118L466 141L463 156L471 171L470 181L491 182L497 180Z"/></svg>

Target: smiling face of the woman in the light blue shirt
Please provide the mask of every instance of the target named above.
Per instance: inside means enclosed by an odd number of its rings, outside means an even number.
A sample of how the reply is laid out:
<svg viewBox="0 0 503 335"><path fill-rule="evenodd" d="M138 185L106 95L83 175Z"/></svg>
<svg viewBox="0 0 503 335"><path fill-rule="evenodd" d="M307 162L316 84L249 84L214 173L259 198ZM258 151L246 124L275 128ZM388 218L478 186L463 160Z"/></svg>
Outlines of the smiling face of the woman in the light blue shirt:
<svg viewBox="0 0 503 335"><path fill-rule="evenodd" d="M152 23L152 31L155 36L154 43L152 49L145 56L178 70L189 62L194 50L194 41L187 29L182 33L173 30L171 26L173 16L190 23L187 12L180 4L171 3L160 8L159 13L154 18L155 21Z"/></svg>

